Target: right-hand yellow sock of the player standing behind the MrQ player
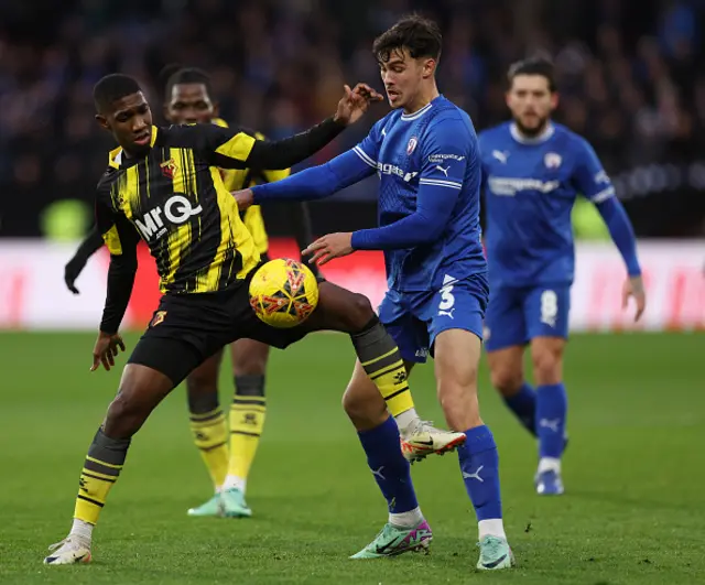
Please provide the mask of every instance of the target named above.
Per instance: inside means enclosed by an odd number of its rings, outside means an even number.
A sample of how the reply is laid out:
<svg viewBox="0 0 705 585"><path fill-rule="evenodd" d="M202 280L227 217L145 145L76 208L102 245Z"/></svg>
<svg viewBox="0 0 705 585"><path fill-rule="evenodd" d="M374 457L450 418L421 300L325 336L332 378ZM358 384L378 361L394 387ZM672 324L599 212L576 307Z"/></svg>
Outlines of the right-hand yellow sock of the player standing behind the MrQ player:
<svg viewBox="0 0 705 585"><path fill-rule="evenodd" d="M230 408L229 476L247 479L260 443L265 414L264 397L235 394Z"/></svg>

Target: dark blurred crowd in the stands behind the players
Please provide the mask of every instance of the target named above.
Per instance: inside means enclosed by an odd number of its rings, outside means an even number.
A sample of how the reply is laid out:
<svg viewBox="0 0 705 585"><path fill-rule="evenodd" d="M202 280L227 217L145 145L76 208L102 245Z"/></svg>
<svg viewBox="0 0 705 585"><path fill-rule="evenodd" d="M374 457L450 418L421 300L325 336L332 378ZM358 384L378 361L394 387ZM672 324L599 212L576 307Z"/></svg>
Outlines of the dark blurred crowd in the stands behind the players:
<svg viewBox="0 0 705 585"><path fill-rule="evenodd" d="M638 235L705 235L705 0L0 0L0 237L39 236L57 201L90 203L112 147L93 119L102 75L137 76L160 119L162 67L203 67L224 118L283 137L330 115L346 82L381 90L371 42L414 10L441 23L441 90L478 130L507 118L508 65L550 55L557 119L594 144ZM316 204L315 230L373 217L375 195Z"/></svg>

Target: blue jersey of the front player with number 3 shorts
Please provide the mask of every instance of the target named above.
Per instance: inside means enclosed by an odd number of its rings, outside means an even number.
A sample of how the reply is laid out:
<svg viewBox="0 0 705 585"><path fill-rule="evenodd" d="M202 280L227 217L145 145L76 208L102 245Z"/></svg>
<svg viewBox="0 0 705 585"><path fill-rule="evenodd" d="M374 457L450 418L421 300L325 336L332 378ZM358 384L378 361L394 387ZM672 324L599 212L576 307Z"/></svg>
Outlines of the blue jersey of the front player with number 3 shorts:
<svg viewBox="0 0 705 585"><path fill-rule="evenodd" d="M424 185L459 191L437 240L384 251L390 289L438 290L444 283L487 271L480 243L479 149L465 111L443 96L412 115L394 110L354 150L377 170L380 226L413 214Z"/></svg>

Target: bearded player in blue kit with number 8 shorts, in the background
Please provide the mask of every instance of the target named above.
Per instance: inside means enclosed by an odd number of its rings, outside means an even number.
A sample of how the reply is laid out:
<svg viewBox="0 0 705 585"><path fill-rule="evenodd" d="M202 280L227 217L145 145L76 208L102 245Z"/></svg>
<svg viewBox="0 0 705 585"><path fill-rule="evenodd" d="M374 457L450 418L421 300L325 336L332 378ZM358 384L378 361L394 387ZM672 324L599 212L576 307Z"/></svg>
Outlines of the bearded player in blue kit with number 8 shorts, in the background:
<svg viewBox="0 0 705 585"><path fill-rule="evenodd" d="M578 194L597 206L623 258L622 304L633 296L636 319L646 295L631 224L595 151L551 121L558 101L552 64L519 62L509 84L513 120L479 136L491 291L485 343L492 384L539 438L536 491L560 495L567 412L563 353L574 277L571 209ZM522 368L527 345L535 390Z"/></svg>

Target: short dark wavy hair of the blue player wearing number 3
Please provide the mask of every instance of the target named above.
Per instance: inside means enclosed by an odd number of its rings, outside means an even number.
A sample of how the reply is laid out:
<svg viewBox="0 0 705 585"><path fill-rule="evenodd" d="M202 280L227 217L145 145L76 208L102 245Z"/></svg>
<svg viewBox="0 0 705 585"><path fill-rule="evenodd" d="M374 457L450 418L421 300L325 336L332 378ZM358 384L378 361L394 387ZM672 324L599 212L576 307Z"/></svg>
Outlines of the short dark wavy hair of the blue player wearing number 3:
<svg viewBox="0 0 705 585"><path fill-rule="evenodd" d="M438 25L420 14L404 17L372 43L372 53L380 63L387 63L394 51L408 48L412 58L441 57L443 35Z"/></svg>

